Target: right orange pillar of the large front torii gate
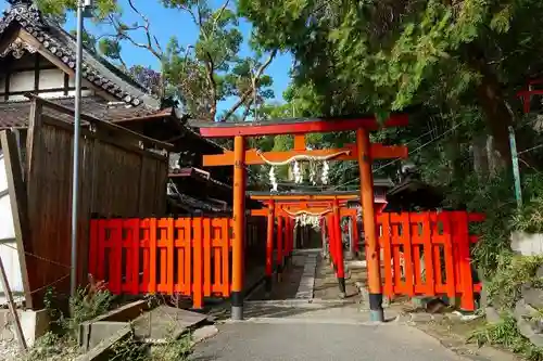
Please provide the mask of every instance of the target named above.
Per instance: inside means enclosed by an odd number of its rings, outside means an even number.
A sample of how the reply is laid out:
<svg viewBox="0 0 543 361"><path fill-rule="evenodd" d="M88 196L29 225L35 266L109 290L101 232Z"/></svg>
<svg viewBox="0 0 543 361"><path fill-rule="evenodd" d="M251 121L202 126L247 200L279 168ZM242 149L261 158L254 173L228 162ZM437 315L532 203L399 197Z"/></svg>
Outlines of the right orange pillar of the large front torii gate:
<svg viewBox="0 0 543 361"><path fill-rule="evenodd" d="M361 198L364 212L364 235L366 237L366 261L368 270L369 309L371 321L384 321L382 310L382 287L380 252L377 242L375 203L374 203L374 175L371 170L371 154L369 133L359 128L356 131L356 150L361 173Z"/></svg>

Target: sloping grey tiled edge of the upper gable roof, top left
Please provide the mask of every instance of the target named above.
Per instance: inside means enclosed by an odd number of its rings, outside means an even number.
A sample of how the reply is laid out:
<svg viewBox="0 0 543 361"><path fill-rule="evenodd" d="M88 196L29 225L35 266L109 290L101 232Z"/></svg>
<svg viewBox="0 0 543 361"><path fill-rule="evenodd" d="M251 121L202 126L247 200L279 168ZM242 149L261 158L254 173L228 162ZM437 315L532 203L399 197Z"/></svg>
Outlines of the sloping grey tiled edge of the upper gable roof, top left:
<svg viewBox="0 0 543 361"><path fill-rule="evenodd" d="M0 36L12 27L21 27L35 37L59 61L75 69L76 40L62 27L41 13L31 1L11 1L11 8L0 20ZM119 101L134 106L160 108L160 101L128 75L100 55L84 49L83 77Z"/></svg>

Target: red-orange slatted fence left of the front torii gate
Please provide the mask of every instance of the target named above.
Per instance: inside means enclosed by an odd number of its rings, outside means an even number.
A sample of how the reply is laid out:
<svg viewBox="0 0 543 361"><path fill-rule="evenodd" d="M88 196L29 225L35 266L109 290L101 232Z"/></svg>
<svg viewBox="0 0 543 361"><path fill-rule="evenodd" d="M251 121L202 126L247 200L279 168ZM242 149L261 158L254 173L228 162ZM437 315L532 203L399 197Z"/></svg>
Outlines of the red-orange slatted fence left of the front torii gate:
<svg viewBox="0 0 543 361"><path fill-rule="evenodd" d="M177 294L192 297L194 308L204 297L230 295L231 218L94 219L90 224L89 271L113 294ZM261 224L248 221L247 259L263 258Z"/></svg>

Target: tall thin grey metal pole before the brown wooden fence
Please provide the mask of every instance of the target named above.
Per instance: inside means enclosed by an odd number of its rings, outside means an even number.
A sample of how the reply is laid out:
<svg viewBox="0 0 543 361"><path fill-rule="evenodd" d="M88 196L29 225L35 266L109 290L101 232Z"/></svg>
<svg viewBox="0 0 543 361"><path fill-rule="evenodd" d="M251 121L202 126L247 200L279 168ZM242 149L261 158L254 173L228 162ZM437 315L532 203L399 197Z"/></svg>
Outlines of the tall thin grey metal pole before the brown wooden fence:
<svg viewBox="0 0 543 361"><path fill-rule="evenodd" d="M79 194L79 137L81 127L81 63L83 63L83 0L77 1L77 55L75 67L75 114L74 114L74 175L72 183L72 270L70 291L72 297L77 291L77 225Z"/></svg>

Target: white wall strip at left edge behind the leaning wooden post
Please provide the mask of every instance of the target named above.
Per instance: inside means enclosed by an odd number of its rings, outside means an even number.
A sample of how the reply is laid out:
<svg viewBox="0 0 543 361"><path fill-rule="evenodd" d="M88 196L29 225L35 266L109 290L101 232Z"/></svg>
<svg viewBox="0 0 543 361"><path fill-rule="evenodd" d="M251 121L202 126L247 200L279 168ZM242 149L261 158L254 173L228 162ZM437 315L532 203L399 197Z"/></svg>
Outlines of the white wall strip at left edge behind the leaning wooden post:
<svg viewBox="0 0 543 361"><path fill-rule="evenodd" d="M8 178L2 150L0 150L0 257L2 258L11 291L16 295L23 293L21 266L18 262L17 245L13 240L15 231L11 212L10 196L2 195L8 190ZM4 293L0 285L0 305L5 304ZM17 299L20 297L15 297Z"/></svg>

